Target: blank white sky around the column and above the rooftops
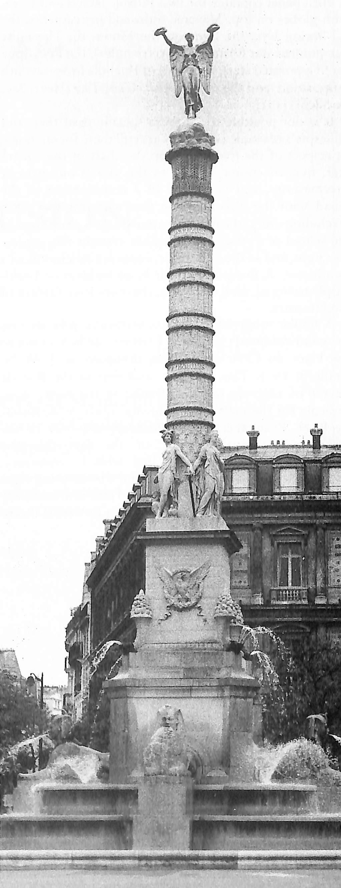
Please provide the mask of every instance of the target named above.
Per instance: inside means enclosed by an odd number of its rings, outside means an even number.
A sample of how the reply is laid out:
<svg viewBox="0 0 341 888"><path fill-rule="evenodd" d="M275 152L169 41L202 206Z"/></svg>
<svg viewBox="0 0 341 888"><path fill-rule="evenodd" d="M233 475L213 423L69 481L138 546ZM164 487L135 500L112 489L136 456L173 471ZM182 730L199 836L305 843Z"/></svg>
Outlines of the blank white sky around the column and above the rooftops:
<svg viewBox="0 0 341 888"><path fill-rule="evenodd" d="M84 562L167 407L163 39L213 38L213 406L226 444L341 442L339 0L3 0L0 646L66 680Z"/></svg>

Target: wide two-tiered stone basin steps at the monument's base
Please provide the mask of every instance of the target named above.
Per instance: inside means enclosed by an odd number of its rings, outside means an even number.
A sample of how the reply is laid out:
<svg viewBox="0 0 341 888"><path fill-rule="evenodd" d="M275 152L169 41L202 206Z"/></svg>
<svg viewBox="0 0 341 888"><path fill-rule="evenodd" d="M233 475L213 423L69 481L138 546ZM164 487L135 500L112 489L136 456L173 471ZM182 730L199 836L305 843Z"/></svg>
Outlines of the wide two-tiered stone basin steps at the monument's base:
<svg viewBox="0 0 341 888"><path fill-rule="evenodd" d="M176 800L181 785L175 789L170 779L151 780L156 784L150 787L151 805L145 810L143 784L41 782L33 794L21 793L16 813L0 818L2 849L128 852L139 847L176 848L178 841L198 852L341 847L341 813L318 812L314 786L229 783L182 787L182 801L178 799L177 804L185 839L180 822L174 822L171 813L172 792ZM155 801L158 781L162 789L159 803ZM32 801L34 807L28 813L25 805L32 805ZM144 837L139 844L144 824L145 844ZM171 844L159 845L164 828ZM181 835L175 836L179 829Z"/></svg>

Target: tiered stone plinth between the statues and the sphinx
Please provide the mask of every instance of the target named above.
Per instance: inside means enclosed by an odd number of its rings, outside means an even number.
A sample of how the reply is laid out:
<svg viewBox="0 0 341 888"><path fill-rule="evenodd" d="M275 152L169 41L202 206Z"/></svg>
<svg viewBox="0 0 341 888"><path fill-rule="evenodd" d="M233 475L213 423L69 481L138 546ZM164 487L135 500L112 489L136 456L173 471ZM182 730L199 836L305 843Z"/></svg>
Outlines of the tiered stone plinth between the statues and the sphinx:
<svg viewBox="0 0 341 888"><path fill-rule="evenodd" d="M244 753L252 740L258 684L240 654L229 649L229 616L215 615L218 599L229 591L236 536L221 518L182 515L147 520L142 537L151 617L136 618L136 653L128 671L105 683L111 697L110 780L143 776L144 750L167 705L181 710L187 741L205 774L221 769L228 779L231 764L238 779L245 766L249 780Z"/></svg>

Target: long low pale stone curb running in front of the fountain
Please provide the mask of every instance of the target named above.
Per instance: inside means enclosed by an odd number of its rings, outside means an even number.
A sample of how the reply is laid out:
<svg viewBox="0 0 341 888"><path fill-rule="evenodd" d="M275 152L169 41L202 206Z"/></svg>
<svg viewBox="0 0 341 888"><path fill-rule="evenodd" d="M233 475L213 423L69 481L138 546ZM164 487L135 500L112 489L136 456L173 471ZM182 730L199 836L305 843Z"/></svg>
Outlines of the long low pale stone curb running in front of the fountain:
<svg viewBox="0 0 341 888"><path fill-rule="evenodd" d="M341 868L341 851L2 851L4 869Z"/></svg>

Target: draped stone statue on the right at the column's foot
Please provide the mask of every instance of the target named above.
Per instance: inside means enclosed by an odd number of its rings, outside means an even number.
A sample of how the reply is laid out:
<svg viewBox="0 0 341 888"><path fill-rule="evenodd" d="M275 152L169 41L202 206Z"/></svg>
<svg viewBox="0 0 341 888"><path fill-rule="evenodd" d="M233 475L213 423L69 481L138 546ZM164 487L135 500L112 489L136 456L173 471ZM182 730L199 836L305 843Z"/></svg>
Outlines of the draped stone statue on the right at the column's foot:
<svg viewBox="0 0 341 888"><path fill-rule="evenodd" d="M221 497L225 487L221 447L218 432L213 431L210 440L201 448L193 465L196 472L197 515L221 514Z"/></svg>

